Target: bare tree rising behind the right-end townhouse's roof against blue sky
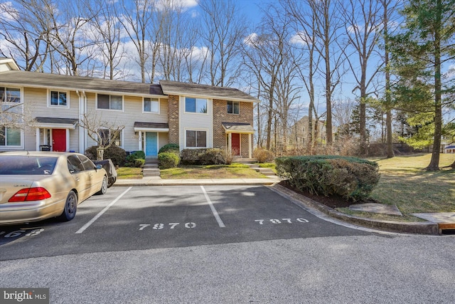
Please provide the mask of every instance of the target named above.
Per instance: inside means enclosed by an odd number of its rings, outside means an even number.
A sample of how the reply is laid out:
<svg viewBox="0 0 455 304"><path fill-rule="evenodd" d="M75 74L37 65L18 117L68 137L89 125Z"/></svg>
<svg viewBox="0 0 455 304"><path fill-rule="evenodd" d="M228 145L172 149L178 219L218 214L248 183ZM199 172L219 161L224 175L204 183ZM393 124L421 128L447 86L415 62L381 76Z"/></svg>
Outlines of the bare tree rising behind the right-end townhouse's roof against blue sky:
<svg viewBox="0 0 455 304"><path fill-rule="evenodd" d="M235 58L240 55L247 21L233 0L201 0L199 6L203 24L198 33L208 48L210 84L228 86L240 66Z"/></svg>

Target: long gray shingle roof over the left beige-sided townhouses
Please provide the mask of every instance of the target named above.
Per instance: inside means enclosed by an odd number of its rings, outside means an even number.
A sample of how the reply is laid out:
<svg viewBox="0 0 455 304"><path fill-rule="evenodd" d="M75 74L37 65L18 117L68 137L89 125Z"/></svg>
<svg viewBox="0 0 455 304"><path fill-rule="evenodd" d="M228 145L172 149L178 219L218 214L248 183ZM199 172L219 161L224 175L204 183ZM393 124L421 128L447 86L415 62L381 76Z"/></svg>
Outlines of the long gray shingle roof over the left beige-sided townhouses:
<svg viewBox="0 0 455 304"><path fill-rule="evenodd" d="M87 90L90 92L118 92L132 95L163 95L160 85L132 81L105 80L50 73L35 73L9 70L0 73L0 83L16 86L36 86L65 90Z"/></svg>

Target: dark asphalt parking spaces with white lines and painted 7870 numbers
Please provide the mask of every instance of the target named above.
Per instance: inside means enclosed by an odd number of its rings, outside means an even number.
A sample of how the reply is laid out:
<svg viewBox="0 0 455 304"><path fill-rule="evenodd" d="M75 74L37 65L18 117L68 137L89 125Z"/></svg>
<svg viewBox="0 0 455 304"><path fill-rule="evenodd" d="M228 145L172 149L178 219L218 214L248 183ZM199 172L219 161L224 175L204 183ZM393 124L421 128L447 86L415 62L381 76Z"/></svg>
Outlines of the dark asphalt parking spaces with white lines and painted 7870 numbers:
<svg viewBox="0 0 455 304"><path fill-rule="evenodd" d="M113 187L80 204L73 221L0 226L0 260L370 234L264 186Z"/></svg>

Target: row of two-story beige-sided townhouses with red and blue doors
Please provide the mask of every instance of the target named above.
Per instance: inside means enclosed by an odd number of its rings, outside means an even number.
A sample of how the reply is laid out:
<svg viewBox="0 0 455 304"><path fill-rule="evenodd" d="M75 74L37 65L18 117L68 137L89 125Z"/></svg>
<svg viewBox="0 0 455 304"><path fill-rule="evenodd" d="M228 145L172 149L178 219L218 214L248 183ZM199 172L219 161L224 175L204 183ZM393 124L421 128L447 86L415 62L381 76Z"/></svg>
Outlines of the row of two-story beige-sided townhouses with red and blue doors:
<svg viewBox="0 0 455 304"><path fill-rule="evenodd" d="M234 88L162 80L159 84L103 80L19 70L0 58L2 107L31 113L33 124L0 127L0 151L83 153L96 145L80 121L84 115L124 126L115 144L154 157L168 143L182 149L218 147L252 158L256 98ZM11 108L11 107L10 107ZM109 132L109 130L106 130Z"/></svg>

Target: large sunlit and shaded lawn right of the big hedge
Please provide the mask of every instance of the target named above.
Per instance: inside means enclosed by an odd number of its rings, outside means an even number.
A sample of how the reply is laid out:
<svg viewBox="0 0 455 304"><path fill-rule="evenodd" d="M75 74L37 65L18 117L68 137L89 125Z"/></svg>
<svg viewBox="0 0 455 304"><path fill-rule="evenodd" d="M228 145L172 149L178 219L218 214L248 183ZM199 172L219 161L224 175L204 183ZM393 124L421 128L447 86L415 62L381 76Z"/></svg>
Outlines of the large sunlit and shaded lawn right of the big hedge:
<svg viewBox="0 0 455 304"><path fill-rule="evenodd" d="M455 171L441 169L438 172L424 170L431 154L414 154L391 159L370 159L380 166L380 181L371 198L383 204L396 204L405 220L415 220L412 213L454 212ZM455 160L454 154L441 154L439 167L448 166ZM356 212L340 209L354 215ZM382 216L385 219L396 216Z"/></svg>

